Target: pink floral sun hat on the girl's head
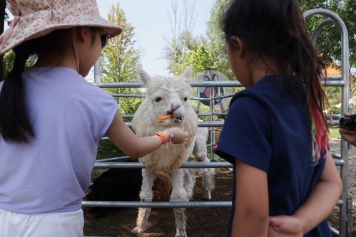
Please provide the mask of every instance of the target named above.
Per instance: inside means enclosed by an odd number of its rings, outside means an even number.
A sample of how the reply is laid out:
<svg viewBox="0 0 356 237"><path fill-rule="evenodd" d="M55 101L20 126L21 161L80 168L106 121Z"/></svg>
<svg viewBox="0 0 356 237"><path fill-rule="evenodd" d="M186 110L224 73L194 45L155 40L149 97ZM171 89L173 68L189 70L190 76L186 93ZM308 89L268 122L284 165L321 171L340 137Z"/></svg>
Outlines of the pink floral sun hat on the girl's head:
<svg viewBox="0 0 356 237"><path fill-rule="evenodd" d="M94 26L103 28L110 37L122 31L115 23L100 16L96 0L6 1L14 19L0 36L0 55L24 41L45 36L56 29Z"/></svg>

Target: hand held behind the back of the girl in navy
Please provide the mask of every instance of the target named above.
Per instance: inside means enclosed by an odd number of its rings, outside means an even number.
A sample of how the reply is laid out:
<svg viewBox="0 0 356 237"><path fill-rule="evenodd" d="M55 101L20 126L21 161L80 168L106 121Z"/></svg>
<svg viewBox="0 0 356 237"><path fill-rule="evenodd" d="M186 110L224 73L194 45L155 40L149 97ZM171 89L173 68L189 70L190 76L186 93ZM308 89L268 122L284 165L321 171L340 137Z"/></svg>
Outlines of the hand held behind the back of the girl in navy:
<svg viewBox="0 0 356 237"><path fill-rule="evenodd" d="M302 221L294 216L270 216L268 237L302 237Z"/></svg>

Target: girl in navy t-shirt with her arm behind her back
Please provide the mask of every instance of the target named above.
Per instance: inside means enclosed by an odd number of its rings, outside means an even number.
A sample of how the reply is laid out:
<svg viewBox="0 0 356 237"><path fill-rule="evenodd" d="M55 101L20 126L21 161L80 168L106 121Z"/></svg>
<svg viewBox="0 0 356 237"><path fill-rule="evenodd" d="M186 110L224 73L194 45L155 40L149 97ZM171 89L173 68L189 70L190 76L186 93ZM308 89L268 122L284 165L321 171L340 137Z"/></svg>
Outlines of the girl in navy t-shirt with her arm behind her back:
<svg viewBox="0 0 356 237"><path fill-rule="evenodd" d="M216 153L234 164L229 236L331 237L342 192L327 149L322 62L296 0L233 0L223 16L235 94Z"/></svg>

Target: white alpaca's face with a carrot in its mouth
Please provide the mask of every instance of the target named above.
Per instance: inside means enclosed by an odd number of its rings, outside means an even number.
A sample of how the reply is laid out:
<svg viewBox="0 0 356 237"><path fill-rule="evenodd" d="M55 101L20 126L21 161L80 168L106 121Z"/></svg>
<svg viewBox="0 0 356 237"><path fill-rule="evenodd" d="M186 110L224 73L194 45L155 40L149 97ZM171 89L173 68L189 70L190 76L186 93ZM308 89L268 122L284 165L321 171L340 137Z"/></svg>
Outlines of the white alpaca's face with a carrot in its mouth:
<svg viewBox="0 0 356 237"><path fill-rule="evenodd" d="M141 76L141 75L140 75ZM151 120L170 127L178 127L185 120L185 113L191 110L188 102L190 85L188 74L173 77L153 78L142 77L146 83L146 102L151 114ZM172 115L166 120L159 120L158 116Z"/></svg>

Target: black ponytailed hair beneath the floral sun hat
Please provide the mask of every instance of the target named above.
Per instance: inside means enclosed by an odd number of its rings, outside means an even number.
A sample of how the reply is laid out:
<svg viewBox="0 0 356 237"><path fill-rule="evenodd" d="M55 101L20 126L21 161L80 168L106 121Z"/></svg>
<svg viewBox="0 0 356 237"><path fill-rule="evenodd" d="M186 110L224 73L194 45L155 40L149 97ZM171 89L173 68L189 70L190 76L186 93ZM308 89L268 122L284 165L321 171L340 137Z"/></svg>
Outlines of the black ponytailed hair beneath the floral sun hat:
<svg viewBox="0 0 356 237"><path fill-rule="evenodd" d="M68 42L68 30L56 30L41 38L25 41L14 48L14 65L4 80L0 93L0 133L8 142L29 142L34 137L26 109L26 94L22 73L31 55L54 55L61 59Z"/></svg>

